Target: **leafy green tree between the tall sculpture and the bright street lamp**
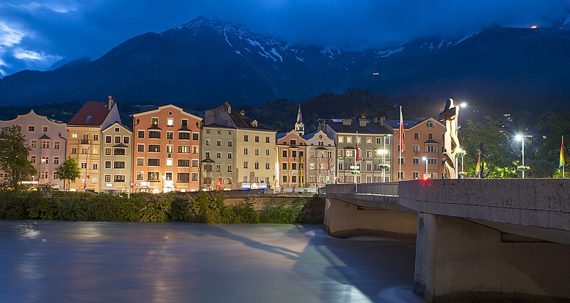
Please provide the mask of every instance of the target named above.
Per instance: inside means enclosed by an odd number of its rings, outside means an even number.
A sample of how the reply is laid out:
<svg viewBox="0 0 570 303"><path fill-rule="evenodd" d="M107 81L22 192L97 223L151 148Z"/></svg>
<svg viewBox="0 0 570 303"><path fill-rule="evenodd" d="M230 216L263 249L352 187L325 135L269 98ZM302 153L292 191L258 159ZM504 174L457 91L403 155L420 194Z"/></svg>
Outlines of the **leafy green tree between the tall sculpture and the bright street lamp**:
<svg viewBox="0 0 570 303"><path fill-rule="evenodd" d="M509 145L509 137L499 119L484 117L485 123L467 120L467 129L459 132L462 149L467 151L465 166L472 175L481 153L482 178L514 178L517 176L517 156Z"/></svg>

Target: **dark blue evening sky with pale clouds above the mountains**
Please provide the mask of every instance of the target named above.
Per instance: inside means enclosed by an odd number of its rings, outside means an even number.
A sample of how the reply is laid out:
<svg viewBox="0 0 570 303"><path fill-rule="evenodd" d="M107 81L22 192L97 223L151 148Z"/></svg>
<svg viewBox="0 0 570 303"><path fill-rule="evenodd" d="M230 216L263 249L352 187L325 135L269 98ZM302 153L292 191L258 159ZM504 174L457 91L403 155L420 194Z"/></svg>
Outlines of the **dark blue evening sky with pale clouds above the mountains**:
<svg viewBox="0 0 570 303"><path fill-rule="evenodd" d="M388 48L422 36L458 38L492 23L551 26L570 0L0 0L0 76L92 60L148 31L204 16L290 43Z"/></svg>

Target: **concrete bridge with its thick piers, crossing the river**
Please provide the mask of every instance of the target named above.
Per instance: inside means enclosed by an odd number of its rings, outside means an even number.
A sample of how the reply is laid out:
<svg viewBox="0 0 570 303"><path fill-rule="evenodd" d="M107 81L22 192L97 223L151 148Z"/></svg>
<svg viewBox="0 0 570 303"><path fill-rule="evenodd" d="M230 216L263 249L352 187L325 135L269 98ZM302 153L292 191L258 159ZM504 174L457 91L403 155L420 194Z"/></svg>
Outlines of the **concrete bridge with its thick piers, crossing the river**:
<svg viewBox="0 0 570 303"><path fill-rule="evenodd" d="M570 300L570 179L327 185L324 228L416 237L428 302Z"/></svg>

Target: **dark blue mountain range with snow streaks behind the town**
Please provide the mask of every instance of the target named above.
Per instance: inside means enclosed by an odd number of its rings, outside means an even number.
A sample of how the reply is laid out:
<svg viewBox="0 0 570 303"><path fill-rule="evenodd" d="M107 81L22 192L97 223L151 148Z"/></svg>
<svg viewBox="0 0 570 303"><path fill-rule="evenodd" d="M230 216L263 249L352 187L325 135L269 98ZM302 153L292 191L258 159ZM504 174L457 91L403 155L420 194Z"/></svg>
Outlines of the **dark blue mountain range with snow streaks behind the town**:
<svg viewBox="0 0 570 303"><path fill-rule="evenodd" d="M570 28L490 26L453 41L423 38L390 49L291 45L231 23L196 18L144 33L101 58L0 79L0 105L71 100L222 104L302 101L351 87L390 97L570 108ZM441 101L443 100L443 101ZM535 106L536 105L536 106ZM534 107L533 107L534 106Z"/></svg>

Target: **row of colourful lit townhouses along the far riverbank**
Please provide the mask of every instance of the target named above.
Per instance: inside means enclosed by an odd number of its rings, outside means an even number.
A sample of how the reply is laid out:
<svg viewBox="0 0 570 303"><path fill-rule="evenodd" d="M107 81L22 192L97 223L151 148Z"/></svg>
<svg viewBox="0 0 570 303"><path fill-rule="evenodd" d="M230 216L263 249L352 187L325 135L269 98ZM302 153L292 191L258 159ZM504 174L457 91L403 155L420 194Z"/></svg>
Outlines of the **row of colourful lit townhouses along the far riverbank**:
<svg viewBox="0 0 570 303"><path fill-rule="evenodd" d="M399 120L323 119L305 133L301 107L290 132L276 134L229 103L204 118L175 105L121 123L113 97L86 102L65 124L29 112L0 121L17 124L38 169L31 184L71 191L168 192L274 188L294 191L331 183L378 183L442 176L445 125L405 120L401 158ZM67 156L81 177L69 188L54 171Z"/></svg>

